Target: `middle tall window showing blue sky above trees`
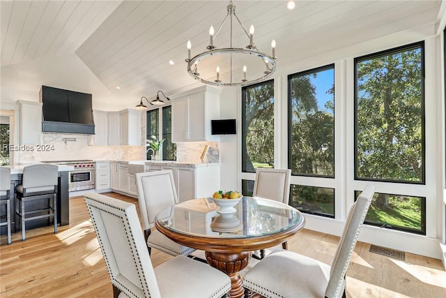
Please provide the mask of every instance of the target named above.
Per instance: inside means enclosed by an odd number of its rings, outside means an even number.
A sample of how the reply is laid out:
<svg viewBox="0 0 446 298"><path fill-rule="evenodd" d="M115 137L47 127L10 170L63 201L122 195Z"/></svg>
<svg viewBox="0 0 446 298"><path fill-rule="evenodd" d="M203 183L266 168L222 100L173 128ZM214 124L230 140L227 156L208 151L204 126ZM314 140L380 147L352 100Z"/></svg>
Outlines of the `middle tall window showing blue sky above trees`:
<svg viewBox="0 0 446 298"><path fill-rule="evenodd" d="M289 168L334 177L334 65L289 75Z"/></svg>

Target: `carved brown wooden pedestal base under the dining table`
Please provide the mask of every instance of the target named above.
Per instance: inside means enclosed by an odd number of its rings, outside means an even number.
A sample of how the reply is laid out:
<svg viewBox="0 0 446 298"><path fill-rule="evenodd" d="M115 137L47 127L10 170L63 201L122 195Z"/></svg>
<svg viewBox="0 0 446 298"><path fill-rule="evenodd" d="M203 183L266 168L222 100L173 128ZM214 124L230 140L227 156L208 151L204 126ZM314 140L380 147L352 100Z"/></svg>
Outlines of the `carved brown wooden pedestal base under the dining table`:
<svg viewBox="0 0 446 298"><path fill-rule="evenodd" d="M206 260L209 265L223 271L231 278L231 298L241 298L245 294L243 279L238 271L245 269L251 260L251 251L241 253L213 253L206 251Z"/></svg>

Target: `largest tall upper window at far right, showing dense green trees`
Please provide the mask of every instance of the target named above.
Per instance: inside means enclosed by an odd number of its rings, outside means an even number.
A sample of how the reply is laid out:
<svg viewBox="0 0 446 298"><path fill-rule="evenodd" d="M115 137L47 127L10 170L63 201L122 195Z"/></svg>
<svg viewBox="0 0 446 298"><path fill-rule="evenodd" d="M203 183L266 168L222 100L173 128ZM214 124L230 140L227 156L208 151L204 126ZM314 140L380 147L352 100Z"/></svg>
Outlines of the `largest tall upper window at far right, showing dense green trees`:
<svg viewBox="0 0 446 298"><path fill-rule="evenodd" d="M423 45L355 59L355 179L424 183Z"/></svg>

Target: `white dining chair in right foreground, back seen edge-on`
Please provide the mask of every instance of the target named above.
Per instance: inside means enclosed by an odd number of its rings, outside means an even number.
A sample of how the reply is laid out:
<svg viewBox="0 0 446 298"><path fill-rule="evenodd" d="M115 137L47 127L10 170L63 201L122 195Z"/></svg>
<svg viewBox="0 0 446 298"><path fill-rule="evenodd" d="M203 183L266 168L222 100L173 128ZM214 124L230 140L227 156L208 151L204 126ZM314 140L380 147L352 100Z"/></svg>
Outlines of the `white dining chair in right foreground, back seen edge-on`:
<svg viewBox="0 0 446 298"><path fill-rule="evenodd" d="M291 251L274 251L245 274L243 286L269 298L345 297L346 272L374 191L367 186L353 203L331 267Z"/></svg>

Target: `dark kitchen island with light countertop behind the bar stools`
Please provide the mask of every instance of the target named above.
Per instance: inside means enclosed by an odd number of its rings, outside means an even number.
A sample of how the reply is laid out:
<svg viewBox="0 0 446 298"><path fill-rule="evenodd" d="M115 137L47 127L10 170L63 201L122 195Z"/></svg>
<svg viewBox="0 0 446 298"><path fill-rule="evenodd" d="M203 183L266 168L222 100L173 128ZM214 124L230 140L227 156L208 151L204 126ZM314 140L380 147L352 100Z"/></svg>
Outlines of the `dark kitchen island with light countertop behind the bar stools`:
<svg viewBox="0 0 446 298"><path fill-rule="evenodd" d="M32 165L36 163L26 163L26 164L20 164L20 165L10 165L11 170L11 188L9 193L9 200L10 200L10 215L11 215L11 230L12 232L15 231L15 186L22 184L22 174L23 174L23 168L26 167L26 165ZM57 187L57 222L60 225L68 225L70 223L70 204L69 204L69 196L68 196L68 172L73 170L74 168L72 166L68 165L57 165L59 167L58 172L58 187ZM38 204L43 204L40 201L36 201L36 206L38 207ZM44 225L48 224L48 220L38 219L35 221L29 221L26 223L26 229L32 229L32 228L38 228ZM6 228L2 227L2 228ZM3 233L3 230L2 230Z"/></svg>

